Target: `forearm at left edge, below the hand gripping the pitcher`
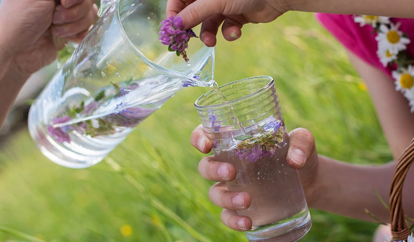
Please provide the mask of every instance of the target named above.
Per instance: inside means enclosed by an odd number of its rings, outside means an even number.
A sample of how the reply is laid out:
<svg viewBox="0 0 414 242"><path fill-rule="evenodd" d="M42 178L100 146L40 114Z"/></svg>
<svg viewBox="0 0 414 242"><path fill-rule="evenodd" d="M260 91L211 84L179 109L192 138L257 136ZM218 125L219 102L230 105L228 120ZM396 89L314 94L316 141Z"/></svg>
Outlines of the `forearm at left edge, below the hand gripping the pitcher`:
<svg viewBox="0 0 414 242"><path fill-rule="evenodd" d="M0 44L0 127L28 76L21 75L12 55Z"/></svg>

